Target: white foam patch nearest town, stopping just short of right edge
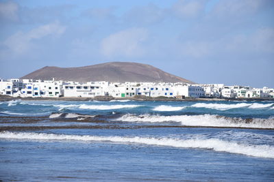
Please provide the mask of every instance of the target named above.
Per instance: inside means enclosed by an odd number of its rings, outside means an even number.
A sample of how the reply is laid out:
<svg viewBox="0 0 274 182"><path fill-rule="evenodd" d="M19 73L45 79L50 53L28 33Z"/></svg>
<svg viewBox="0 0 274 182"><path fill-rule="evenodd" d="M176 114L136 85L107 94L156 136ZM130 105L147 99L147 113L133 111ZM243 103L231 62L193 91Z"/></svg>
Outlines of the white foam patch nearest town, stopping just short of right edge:
<svg viewBox="0 0 274 182"><path fill-rule="evenodd" d="M239 103L239 104L206 104L206 103L197 103L193 104L192 107L195 108L213 108L217 110L228 110L232 108L245 108L251 106L251 104L247 103Z"/></svg>

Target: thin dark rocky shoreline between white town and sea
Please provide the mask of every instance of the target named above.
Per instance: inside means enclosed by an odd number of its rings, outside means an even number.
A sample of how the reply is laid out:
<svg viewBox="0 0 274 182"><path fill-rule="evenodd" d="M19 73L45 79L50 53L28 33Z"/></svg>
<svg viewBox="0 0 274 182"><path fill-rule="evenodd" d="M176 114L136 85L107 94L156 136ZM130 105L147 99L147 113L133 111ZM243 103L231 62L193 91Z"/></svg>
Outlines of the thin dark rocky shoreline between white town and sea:
<svg viewBox="0 0 274 182"><path fill-rule="evenodd" d="M177 102L199 102L199 101L274 101L274 98L185 98L179 99L174 97L109 97L100 96L90 97L10 97L0 95L0 102L10 100L53 100L53 101L111 101L111 100L134 100L134 101L177 101Z"/></svg>

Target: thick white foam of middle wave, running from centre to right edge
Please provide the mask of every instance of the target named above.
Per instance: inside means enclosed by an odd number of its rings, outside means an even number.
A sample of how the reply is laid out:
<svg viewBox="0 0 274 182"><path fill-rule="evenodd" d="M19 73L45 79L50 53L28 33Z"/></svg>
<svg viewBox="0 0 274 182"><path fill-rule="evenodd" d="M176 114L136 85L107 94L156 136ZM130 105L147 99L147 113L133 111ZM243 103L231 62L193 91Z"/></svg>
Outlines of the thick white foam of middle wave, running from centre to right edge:
<svg viewBox="0 0 274 182"><path fill-rule="evenodd" d="M128 122L179 122L188 126L211 126L211 127L254 127L274 128L274 119L252 119L247 123L244 119L221 117L218 115L123 115L115 121Z"/></svg>

